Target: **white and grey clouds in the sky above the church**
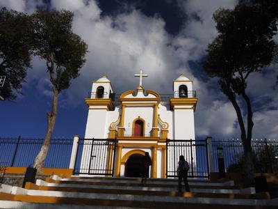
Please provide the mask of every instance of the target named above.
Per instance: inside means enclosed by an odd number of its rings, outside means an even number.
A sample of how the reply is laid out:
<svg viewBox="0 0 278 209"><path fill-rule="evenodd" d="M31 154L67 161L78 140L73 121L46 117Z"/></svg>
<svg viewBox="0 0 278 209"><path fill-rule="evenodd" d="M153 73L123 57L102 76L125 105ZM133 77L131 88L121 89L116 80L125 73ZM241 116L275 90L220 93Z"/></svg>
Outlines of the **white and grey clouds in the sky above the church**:
<svg viewBox="0 0 278 209"><path fill-rule="evenodd" d="M14 2L17 2L19 10L26 9L26 4L22 3L24 1L6 2L10 3L6 3L10 8L16 9ZM101 17L100 8L92 0L86 3L82 0L51 1L51 6L58 10L74 12L74 33L85 40L89 51L80 77L74 79L70 89L63 93L63 102L67 103L65 107L83 104L83 98L90 91L91 81L102 75L111 79L116 93L122 93L138 86L138 79L133 75L142 68L149 75L143 80L145 88L152 88L159 93L172 93L172 80L183 72L186 77L193 79L193 88L197 90L199 98L195 111L196 134L224 138L238 136L234 108L220 91L211 88L211 82L197 79L194 76L195 69L188 65L188 61L198 61L204 56L206 46L217 35L215 23L211 19L213 12L219 7L233 8L235 2L236 0L180 1L179 5L183 6L190 19L181 33L173 37L165 31L165 22L160 17L147 17L139 10L133 9L115 17ZM35 8L35 4L32 5L31 8ZM199 17L199 20L193 18L194 16ZM34 67L39 70L35 70L28 79L42 79L39 83L45 85L47 75L42 70L45 69L44 63L35 61ZM256 79L260 81L258 86L263 86L261 94L272 88L268 79L261 75ZM250 84L250 89L255 85ZM270 117L270 121L264 119L263 114ZM261 130L271 131L271 134L275 130L277 132L274 123L277 113L265 109L263 114L254 114L256 125ZM269 122L272 124L268 124ZM256 134L257 130L260 129L254 130Z"/></svg>

